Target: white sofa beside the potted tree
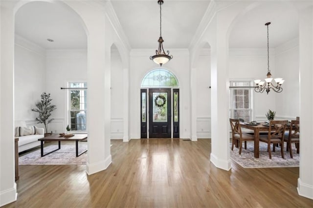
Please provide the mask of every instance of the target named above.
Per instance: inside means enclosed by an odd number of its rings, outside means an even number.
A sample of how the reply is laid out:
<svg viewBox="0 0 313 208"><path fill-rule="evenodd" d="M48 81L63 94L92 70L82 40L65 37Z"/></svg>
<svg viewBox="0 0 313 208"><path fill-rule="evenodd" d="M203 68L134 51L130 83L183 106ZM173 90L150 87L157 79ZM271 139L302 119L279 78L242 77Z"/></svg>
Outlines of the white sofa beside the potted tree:
<svg viewBox="0 0 313 208"><path fill-rule="evenodd" d="M24 121L15 121L15 127L26 127ZM44 128L36 128L36 134L19 136L19 152L31 149L36 146L40 146L40 141L38 139L45 137Z"/></svg>

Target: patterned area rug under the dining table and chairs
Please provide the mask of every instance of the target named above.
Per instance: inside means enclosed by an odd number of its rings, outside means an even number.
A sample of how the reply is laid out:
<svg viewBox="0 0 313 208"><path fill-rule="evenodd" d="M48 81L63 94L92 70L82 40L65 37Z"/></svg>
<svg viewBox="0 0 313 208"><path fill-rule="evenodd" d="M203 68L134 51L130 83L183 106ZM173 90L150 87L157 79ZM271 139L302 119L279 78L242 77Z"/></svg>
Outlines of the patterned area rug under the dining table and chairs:
<svg viewBox="0 0 313 208"><path fill-rule="evenodd" d="M299 154L296 153L296 148L292 144L292 156L286 151L286 143L284 146L284 157L281 157L280 147L276 147L276 151L273 152L271 145L271 156L272 159L268 157L268 145L266 143L260 142L260 158L254 157L254 144L247 142L247 149L243 148L241 150L241 155L239 155L239 148L234 146L234 150L231 150L230 142L230 158L238 163L240 166L245 168L262 168L262 167L298 167L299 166Z"/></svg>

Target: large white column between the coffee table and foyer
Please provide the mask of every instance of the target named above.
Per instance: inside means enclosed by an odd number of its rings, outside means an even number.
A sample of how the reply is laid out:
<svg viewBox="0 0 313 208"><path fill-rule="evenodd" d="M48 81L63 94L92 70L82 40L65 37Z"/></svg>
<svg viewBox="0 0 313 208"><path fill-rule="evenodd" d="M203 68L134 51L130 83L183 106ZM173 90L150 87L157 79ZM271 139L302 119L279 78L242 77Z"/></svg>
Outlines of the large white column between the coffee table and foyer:
<svg viewBox="0 0 313 208"><path fill-rule="evenodd" d="M87 18L86 18L87 19ZM112 162L110 153L111 75L110 49L105 44L104 15L89 16L88 34L88 158L87 173L105 170Z"/></svg>

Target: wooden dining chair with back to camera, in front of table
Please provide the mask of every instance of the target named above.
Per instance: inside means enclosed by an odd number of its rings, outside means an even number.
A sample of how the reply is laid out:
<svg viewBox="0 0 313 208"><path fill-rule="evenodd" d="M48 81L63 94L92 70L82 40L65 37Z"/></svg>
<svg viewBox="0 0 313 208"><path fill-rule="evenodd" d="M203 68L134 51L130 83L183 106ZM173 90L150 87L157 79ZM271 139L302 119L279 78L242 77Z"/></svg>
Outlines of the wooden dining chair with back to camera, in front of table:
<svg viewBox="0 0 313 208"><path fill-rule="evenodd" d="M270 154L270 144L273 144L273 151L275 151L275 144L279 144L281 148L282 158L284 158L284 136L288 121L270 121L268 128L268 135L260 135L261 142L268 143L268 156L272 159Z"/></svg>

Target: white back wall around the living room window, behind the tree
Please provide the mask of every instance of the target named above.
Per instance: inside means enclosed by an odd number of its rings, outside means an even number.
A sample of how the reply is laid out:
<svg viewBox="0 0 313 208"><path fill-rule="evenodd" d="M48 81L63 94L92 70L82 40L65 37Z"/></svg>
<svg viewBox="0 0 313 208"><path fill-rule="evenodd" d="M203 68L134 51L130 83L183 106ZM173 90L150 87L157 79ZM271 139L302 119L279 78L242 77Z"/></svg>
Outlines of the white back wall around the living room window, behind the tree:
<svg viewBox="0 0 313 208"><path fill-rule="evenodd" d="M57 106L48 131L64 132L68 124L67 90L61 87L67 87L67 82L87 82L87 50L47 50L45 67L46 92Z"/></svg>

